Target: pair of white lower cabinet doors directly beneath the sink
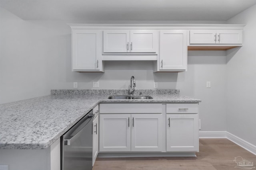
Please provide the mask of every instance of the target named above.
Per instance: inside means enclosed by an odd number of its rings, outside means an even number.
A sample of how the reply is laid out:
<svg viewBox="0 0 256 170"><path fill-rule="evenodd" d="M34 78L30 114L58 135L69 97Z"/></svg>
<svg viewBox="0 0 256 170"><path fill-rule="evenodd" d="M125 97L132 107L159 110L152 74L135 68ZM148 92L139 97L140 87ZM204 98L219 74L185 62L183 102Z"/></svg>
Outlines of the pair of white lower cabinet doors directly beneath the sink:
<svg viewBox="0 0 256 170"><path fill-rule="evenodd" d="M162 115L100 115L100 152L161 151Z"/></svg>

